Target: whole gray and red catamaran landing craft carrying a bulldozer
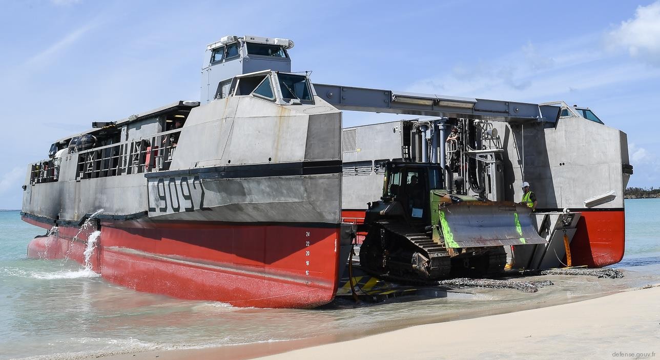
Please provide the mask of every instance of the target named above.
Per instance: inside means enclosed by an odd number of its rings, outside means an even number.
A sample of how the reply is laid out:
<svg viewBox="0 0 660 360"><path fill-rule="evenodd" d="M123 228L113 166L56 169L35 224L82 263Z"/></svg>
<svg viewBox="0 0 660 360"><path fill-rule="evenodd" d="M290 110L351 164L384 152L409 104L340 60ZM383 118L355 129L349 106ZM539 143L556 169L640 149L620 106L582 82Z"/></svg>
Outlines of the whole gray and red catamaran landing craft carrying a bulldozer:
<svg viewBox="0 0 660 360"><path fill-rule="evenodd" d="M55 141L21 215L57 231L28 256L82 263L88 221L108 281L301 308L332 301L355 237L366 270L413 280L622 258L626 134L588 108L312 84L292 47L225 36L207 46L201 102ZM341 110L428 118L342 129ZM523 180L535 213L512 203Z"/></svg>

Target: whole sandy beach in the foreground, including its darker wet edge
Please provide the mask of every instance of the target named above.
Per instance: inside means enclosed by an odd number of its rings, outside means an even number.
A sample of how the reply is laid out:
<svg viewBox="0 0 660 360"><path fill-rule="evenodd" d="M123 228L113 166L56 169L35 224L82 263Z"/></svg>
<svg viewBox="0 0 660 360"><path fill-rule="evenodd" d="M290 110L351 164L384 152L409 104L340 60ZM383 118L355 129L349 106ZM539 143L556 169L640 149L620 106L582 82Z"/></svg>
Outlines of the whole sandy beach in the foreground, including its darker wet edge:
<svg viewBox="0 0 660 360"><path fill-rule="evenodd" d="M347 329L345 334L304 340L147 351L104 359L660 357L660 287L603 295L608 294L445 314L426 320L432 324L389 324L360 334Z"/></svg>

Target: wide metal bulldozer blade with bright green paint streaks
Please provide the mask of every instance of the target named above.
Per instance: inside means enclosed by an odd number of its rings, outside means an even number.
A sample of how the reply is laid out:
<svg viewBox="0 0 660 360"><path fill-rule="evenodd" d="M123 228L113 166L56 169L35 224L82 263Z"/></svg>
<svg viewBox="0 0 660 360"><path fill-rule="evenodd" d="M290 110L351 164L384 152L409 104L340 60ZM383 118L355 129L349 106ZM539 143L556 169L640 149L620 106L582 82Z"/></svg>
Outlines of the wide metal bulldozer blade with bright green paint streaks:
<svg viewBox="0 0 660 360"><path fill-rule="evenodd" d="M441 207L440 231L447 248L546 244L531 220L531 209L504 201L463 201Z"/></svg>

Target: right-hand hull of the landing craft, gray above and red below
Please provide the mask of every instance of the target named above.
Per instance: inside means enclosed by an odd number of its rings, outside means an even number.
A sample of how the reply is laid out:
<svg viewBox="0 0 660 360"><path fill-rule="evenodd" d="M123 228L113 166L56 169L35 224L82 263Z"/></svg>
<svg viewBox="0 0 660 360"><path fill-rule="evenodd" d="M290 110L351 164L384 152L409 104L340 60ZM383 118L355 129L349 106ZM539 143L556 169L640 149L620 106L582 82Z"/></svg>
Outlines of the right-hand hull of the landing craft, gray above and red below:
<svg viewBox="0 0 660 360"><path fill-rule="evenodd" d="M623 192L632 174L625 133L605 126L589 108L565 102L405 96L391 93L390 106L428 117L343 129L345 221L364 221L363 204L378 198L387 161L432 163L444 170L444 188L457 195L520 202L521 184L531 184L538 206L530 217L546 244L506 246L513 268L566 266L566 250L573 266L621 260ZM443 111L445 99L463 110Z"/></svg>

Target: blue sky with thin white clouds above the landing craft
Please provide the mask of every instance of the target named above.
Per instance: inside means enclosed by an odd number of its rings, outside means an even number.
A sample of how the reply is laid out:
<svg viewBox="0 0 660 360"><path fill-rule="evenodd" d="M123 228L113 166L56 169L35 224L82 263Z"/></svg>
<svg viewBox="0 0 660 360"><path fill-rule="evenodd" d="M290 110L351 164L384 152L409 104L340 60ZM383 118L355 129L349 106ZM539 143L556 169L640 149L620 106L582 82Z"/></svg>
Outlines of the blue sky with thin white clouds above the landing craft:
<svg viewBox="0 0 660 360"><path fill-rule="evenodd" d="M53 140L199 99L205 45L228 34L294 40L294 71L317 83L589 106L628 133L629 186L660 186L660 1L0 5L0 209L20 208L26 165Z"/></svg>

